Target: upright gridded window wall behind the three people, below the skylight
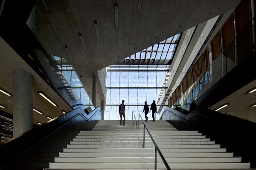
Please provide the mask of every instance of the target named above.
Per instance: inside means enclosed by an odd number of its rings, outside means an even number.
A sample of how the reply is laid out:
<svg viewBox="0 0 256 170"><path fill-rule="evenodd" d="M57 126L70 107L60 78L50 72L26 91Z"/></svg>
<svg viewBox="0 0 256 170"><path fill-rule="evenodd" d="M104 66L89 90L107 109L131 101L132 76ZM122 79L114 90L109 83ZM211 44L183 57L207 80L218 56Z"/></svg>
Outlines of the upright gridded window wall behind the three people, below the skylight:
<svg viewBox="0 0 256 170"><path fill-rule="evenodd" d="M157 103L160 90L163 88L166 80L169 66L163 69L158 68L131 67L123 69L122 66L116 65L108 67L107 76L107 101L104 119L119 119L119 104L125 100L125 116L126 119L132 119L132 112L138 116L142 113L144 102L147 101L150 107L153 100ZM119 69L117 69L119 68ZM155 69L156 71L154 71ZM160 70L159 70L160 69ZM160 104L157 103L158 106ZM150 119L151 116L149 116Z"/></svg>

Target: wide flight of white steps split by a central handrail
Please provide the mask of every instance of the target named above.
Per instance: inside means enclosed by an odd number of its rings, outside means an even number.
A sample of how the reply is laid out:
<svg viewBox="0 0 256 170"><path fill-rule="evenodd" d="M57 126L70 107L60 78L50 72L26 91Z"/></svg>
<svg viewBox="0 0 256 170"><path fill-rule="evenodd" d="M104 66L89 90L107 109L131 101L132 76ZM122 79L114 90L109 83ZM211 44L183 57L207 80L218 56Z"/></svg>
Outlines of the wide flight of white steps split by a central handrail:
<svg viewBox="0 0 256 170"><path fill-rule="evenodd" d="M146 125L172 170L250 169L250 162L241 162L241 157L233 157L198 131L180 131L165 120ZM92 131L80 131L44 170L151 170L154 148L147 132L143 148L142 122L135 130L132 120L126 120L125 126L118 120L99 120ZM157 169L166 169L159 155Z"/></svg>

